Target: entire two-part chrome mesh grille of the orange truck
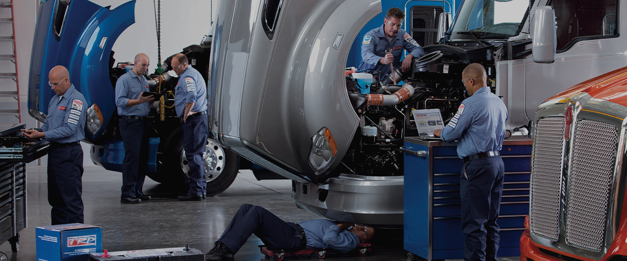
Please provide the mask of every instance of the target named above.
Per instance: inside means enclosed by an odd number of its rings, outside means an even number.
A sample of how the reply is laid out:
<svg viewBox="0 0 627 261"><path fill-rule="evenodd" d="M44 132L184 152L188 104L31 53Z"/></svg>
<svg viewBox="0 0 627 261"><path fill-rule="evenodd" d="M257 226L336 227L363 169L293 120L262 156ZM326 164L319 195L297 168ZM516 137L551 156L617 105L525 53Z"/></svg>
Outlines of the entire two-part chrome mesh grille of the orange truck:
<svg viewBox="0 0 627 261"><path fill-rule="evenodd" d="M552 242L601 252L613 193L618 127L579 118L573 124L572 143L566 150L569 155L564 155L564 128L563 116L537 121L531 168L530 230ZM564 171L566 177L562 177L564 159L569 164Z"/></svg>

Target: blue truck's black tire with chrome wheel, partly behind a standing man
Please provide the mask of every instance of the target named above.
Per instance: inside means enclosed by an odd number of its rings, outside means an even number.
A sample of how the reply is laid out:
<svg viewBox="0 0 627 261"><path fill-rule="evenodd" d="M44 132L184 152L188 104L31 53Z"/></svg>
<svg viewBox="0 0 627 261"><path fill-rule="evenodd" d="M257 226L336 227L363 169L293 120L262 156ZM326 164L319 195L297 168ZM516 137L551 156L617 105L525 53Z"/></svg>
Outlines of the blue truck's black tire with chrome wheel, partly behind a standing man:
<svg viewBox="0 0 627 261"><path fill-rule="evenodd" d="M224 192L231 186L240 168L240 156L222 148L216 141L207 139L204 151L207 196ZM182 184L189 183L189 165L183 148L182 130L178 128L167 139L167 143L157 158L157 173L150 175L155 182Z"/></svg>

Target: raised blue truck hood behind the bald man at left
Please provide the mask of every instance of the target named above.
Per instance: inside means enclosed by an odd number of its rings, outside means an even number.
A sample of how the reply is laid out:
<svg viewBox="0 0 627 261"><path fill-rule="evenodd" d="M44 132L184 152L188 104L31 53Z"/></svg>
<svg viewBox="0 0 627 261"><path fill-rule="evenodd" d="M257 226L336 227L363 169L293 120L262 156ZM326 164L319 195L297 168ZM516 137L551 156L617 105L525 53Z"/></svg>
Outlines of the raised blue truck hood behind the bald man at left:
<svg viewBox="0 0 627 261"><path fill-rule="evenodd" d="M29 113L39 120L48 114L55 93L48 73L56 65L70 71L70 82L85 96L92 120L100 128L85 126L85 139L102 136L115 111L115 91L109 78L109 57L122 31L135 23L135 0L110 10L87 0L50 0L40 7L34 34L28 86Z"/></svg>

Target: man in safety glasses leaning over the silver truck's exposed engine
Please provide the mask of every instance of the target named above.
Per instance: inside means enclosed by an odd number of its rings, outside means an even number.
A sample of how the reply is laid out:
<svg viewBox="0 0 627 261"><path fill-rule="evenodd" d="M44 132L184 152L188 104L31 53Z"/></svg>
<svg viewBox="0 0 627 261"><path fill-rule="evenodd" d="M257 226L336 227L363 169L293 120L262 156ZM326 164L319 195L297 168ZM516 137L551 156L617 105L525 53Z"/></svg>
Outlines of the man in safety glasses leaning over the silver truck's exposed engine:
<svg viewBox="0 0 627 261"><path fill-rule="evenodd" d="M387 10L386 18L379 28L372 29L361 43L361 64L358 71L379 72L379 80L391 72L389 64L396 66L401 61L403 49L409 54L401 63L401 71L406 72L411 68L413 58L424 55L423 48L411 38L405 30L401 29L405 14L399 8ZM386 54L388 50L392 53Z"/></svg>

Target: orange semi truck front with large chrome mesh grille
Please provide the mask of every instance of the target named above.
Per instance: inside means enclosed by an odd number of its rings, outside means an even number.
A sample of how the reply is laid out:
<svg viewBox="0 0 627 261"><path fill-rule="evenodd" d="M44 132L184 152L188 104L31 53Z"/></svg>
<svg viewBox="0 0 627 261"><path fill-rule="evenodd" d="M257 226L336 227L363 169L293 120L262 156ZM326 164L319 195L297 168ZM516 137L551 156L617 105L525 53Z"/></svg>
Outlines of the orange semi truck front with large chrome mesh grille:
<svg viewBox="0 0 627 261"><path fill-rule="evenodd" d="M520 261L627 258L627 67L552 96L534 123Z"/></svg>

